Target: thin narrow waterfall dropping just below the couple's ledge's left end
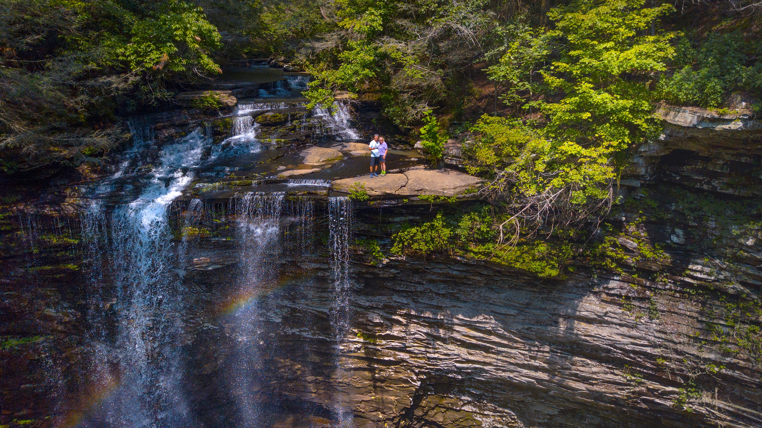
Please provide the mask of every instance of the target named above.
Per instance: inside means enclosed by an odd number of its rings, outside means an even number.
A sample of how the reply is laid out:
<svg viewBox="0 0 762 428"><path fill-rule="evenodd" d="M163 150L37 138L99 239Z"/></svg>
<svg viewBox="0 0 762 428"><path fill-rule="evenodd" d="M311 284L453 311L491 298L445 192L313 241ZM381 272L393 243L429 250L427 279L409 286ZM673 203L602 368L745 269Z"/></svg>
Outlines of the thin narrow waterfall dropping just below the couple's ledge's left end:
<svg viewBox="0 0 762 428"><path fill-rule="evenodd" d="M334 292L331 307L331 326L336 340L335 377L348 375L341 369L341 343L351 327L351 282L349 245L352 238L352 202L347 196L335 196L328 200L328 245L331 251L331 273ZM342 382L343 383L343 382ZM334 402L334 411L342 428L351 426L352 412L347 410L343 397Z"/></svg>

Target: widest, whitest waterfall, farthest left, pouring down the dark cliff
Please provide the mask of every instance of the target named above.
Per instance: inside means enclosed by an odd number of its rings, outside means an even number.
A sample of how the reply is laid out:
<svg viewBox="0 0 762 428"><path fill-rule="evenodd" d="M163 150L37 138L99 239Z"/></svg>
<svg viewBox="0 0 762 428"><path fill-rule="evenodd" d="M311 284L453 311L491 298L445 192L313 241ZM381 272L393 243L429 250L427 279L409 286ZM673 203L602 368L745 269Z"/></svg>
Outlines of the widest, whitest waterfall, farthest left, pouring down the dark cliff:
<svg viewBox="0 0 762 428"><path fill-rule="evenodd" d="M91 239L88 252L94 257L89 286L95 308L91 366L94 381L103 384L94 388L110 391L93 409L95 425L194 424L180 385L177 353L185 293L171 271L175 259L167 207L190 184L192 168L208 142L196 129L165 145L161 164L152 168L148 185L136 200L117 206L110 216L102 214L103 206L95 201L85 213L82 233ZM104 286L104 276L113 284L110 289ZM114 334L101 322L106 311L116 318ZM107 339L110 336L114 338ZM91 423L85 420L82 425Z"/></svg>

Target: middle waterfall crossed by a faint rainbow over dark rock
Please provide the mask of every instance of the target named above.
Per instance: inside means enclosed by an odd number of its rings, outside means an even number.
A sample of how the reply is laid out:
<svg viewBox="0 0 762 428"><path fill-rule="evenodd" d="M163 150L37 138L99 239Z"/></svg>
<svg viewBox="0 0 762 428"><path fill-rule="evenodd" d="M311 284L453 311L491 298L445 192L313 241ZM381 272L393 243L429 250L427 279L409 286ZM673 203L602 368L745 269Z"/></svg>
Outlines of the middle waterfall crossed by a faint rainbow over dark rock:
<svg viewBox="0 0 762 428"><path fill-rule="evenodd" d="M271 252L280 249L280 211L285 193L248 193L239 206L236 231L239 241L240 267L236 295L232 296L229 315L235 351L229 367L232 388L240 421L245 428L267 426L270 416L261 407L261 353L271 347L261 337L261 297L277 282Z"/></svg>

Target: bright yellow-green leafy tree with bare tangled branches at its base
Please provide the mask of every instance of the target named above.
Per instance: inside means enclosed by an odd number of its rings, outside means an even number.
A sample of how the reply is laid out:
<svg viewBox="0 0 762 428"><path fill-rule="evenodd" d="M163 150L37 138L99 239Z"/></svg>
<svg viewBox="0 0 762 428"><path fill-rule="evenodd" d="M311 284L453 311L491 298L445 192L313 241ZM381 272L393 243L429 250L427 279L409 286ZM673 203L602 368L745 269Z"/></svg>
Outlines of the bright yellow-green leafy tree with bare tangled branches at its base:
<svg viewBox="0 0 762 428"><path fill-rule="evenodd" d="M657 135L648 85L674 56L674 34L649 30L674 8L644 6L579 0L554 8L548 16L555 29L517 31L491 69L493 78L525 81L543 60L537 71L546 99L558 100L535 103L546 117L543 127L485 116L472 128L469 171L490 178L483 193L509 213L498 242L515 244L543 227L552 231L606 211L626 150Z"/></svg>

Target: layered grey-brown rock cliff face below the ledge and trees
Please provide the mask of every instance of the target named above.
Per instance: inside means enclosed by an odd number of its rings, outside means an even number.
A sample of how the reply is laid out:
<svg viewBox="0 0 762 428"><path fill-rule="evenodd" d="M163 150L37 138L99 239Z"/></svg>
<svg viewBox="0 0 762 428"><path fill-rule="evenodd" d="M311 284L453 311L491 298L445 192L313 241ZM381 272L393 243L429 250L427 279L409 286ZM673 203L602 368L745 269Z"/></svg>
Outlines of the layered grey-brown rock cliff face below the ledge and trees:
<svg viewBox="0 0 762 428"><path fill-rule="evenodd" d="M354 239L387 248L395 227L451 206L358 203L338 295L325 198L309 196L309 225L286 210L275 241L247 248L238 198L200 196L210 217L175 241L190 261L171 273L186 413L201 426L240 426L251 408L277 426L345 413L385 428L760 426L760 142L754 129L668 124L634 155L594 237L610 238L600 260L578 257L557 279L447 254L379 261ZM92 412L88 331L123 310L76 207L49 200L0 219L2 423ZM175 232L189 200L172 207Z"/></svg>

